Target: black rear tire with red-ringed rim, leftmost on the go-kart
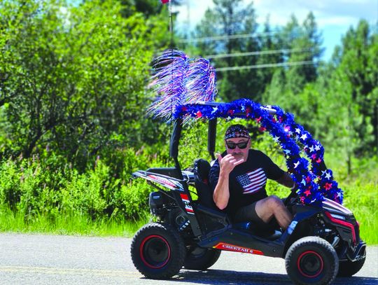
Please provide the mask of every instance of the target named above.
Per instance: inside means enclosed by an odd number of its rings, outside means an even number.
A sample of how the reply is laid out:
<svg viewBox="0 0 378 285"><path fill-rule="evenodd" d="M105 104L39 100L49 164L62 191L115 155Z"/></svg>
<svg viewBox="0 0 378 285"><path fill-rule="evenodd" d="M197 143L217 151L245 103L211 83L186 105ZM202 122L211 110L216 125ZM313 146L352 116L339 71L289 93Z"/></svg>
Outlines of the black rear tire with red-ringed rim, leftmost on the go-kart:
<svg viewBox="0 0 378 285"><path fill-rule="evenodd" d="M186 247L179 232L166 223L148 223L132 239L134 266L151 279L168 279L183 267Z"/></svg>

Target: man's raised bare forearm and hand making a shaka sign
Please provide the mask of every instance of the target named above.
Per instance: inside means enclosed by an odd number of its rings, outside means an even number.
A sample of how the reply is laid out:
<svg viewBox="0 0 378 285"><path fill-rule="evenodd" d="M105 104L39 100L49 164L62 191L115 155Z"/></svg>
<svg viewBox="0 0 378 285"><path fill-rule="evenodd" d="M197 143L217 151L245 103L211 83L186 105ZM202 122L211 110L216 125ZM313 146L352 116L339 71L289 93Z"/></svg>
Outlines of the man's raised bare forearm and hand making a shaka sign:
<svg viewBox="0 0 378 285"><path fill-rule="evenodd" d="M228 154L222 158L222 155L216 154L218 157L219 167L221 168L219 172L218 183L214 189L213 199L218 209L225 209L230 199L230 189L228 188L228 183L230 179L230 172L236 165L244 162L243 159L236 160L234 156Z"/></svg>

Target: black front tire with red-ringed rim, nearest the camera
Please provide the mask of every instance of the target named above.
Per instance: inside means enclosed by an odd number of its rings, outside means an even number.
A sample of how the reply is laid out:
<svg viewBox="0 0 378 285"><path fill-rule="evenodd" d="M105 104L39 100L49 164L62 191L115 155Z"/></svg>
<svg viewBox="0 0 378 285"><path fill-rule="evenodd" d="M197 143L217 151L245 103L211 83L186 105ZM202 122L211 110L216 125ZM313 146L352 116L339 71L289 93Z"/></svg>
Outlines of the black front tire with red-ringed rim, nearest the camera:
<svg viewBox="0 0 378 285"><path fill-rule="evenodd" d="M330 284L339 270L335 249L320 237L298 239L288 249L285 262L295 284Z"/></svg>

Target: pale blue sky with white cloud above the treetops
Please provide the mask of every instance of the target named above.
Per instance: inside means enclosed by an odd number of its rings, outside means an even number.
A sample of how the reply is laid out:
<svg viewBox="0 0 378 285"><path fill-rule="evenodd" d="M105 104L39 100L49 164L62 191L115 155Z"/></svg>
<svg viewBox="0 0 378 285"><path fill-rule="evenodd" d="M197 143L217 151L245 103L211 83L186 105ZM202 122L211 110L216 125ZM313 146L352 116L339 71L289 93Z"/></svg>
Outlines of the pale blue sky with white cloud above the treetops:
<svg viewBox="0 0 378 285"><path fill-rule="evenodd" d="M244 0L245 3L251 1ZM214 7L212 0L183 0L179 12L178 28L193 29L200 22L207 8ZM272 27L283 26L295 15L302 23L310 11L314 13L319 32L323 35L323 60L329 60L335 46L341 45L342 36L350 27L357 27L360 19L369 22L377 30L378 0L255 0L257 22L262 25L267 15ZM189 19L188 21L188 8Z"/></svg>

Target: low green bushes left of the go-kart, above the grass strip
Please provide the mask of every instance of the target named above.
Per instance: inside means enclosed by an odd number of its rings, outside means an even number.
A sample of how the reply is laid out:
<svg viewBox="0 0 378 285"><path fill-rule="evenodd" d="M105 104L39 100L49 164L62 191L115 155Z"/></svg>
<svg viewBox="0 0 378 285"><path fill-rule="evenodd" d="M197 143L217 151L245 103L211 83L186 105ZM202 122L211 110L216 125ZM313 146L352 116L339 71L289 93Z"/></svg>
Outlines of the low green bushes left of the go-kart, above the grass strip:
<svg viewBox="0 0 378 285"><path fill-rule="evenodd" d="M65 213L92 220L106 216L138 219L148 211L151 189L142 181L132 182L131 174L165 162L151 148L117 153L123 161L121 167L114 167L119 162L97 158L94 167L81 174L71 165L60 166L55 155L43 160L36 156L5 160L0 165L0 208L20 212L26 220L38 215L55 219Z"/></svg>

